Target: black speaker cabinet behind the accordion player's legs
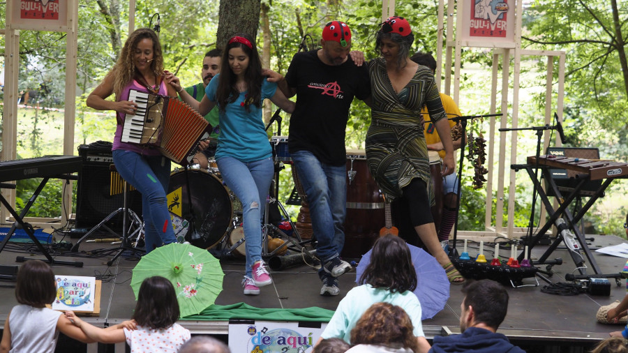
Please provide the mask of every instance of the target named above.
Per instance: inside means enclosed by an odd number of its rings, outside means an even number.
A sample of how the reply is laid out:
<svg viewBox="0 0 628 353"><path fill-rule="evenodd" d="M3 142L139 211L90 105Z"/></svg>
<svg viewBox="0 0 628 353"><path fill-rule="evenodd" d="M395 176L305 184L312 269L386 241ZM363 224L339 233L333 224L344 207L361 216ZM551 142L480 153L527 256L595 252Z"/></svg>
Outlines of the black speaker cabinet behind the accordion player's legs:
<svg viewBox="0 0 628 353"><path fill-rule="evenodd" d="M78 147L83 166L79 172L76 193L76 230L89 230L113 211L124 206L124 195L110 195L110 165L113 163L111 142L98 141ZM127 204L138 216L142 215L142 195L128 191ZM106 223L114 231L121 231L122 217L115 216Z"/></svg>

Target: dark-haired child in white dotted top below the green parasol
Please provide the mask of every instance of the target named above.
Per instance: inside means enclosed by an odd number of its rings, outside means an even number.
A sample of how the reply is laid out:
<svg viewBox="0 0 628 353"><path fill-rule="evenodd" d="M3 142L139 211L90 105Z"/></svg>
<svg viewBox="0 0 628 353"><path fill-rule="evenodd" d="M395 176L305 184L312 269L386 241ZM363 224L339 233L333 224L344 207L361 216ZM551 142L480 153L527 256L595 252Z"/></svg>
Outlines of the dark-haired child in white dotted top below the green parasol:
<svg viewBox="0 0 628 353"><path fill-rule="evenodd" d="M66 312L66 317L92 340L100 343L126 340L131 352L177 352L190 339L190 331L177 324L179 303L174 287L170 280L161 276L146 278L140 285L132 317L137 324L135 330L128 327L100 329L84 322L71 311Z"/></svg>

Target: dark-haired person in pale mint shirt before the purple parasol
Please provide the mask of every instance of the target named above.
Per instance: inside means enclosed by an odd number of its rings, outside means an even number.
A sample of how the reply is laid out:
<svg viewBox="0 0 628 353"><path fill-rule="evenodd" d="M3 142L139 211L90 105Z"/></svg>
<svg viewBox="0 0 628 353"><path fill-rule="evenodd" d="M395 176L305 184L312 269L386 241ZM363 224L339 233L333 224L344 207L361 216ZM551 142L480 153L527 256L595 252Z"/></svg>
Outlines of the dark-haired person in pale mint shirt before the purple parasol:
<svg viewBox="0 0 628 353"><path fill-rule="evenodd" d="M412 320L412 334L419 351L427 352L430 345L421 325L421 303L412 291L417 287L417 272L412 266L412 255L405 241L398 236L382 236L373 245L371 262L354 287L338 303L338 308L323 331L321 339L343 338L353 344L351 330L362 314L383 301L404 308Z"/></svg>

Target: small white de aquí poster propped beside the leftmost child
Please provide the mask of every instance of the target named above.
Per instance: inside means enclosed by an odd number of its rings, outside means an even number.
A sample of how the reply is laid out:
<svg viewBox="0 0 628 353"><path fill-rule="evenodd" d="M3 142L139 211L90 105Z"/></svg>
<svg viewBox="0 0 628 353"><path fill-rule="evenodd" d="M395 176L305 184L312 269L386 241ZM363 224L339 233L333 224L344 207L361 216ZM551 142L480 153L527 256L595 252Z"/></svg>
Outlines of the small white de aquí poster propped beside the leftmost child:
<svg viewBox="0 0 628 353"><path fill-rule="evenodd" d="M54 276L57 296L53 310L94 311L96 277Z"/></svg>

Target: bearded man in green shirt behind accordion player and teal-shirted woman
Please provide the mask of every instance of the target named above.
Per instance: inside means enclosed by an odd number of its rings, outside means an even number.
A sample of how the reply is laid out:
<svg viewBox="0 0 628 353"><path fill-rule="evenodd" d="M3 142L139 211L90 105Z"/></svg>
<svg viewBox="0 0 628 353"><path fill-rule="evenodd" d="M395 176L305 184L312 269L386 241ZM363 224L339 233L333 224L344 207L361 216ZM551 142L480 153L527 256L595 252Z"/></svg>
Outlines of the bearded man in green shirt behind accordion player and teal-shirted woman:
<svg viewBox="0 0 628 353"><path fill-rule="evenodd" d="M202 82L195 84L194 86L186 87L185 90L193 96L195 100L199 102L202 100L205 94L205 87L209 84L214 76L220 73L220 57L223 52L220 49L210 50L205 54L203 58L203 67L201 69ZM209 167L209 159L216 154L216 144L218 142L218 135L220 134L220 126L218 126L218 105L214 107L207 115L205 120L209 121L212 131L207 142L201 142L201 147L204 147L201 151L194 156L194 162L199 163L202 169Z"/></svg>

